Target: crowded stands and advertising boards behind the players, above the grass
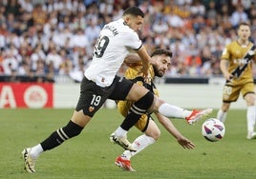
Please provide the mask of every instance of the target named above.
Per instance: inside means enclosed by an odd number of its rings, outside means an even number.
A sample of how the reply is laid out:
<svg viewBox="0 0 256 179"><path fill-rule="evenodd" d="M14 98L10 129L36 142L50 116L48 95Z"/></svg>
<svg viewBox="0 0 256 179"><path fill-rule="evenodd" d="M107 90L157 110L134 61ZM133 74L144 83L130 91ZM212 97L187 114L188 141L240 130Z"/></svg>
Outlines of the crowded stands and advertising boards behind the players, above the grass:
<svg viewBox="0 0 256 179"><path fill-rule="evenodd" d="M130 6L145 12L139 35L147 50L174 53L172 68L157 79L161 95L178 105L182 101L182 107L195 101L187 93L203 95L205 101L193 107L217 108L223 84L220 55L237 37L239 22L251 24L250 40L256 43L252 0L2 0L0 108L74 108L77 82L91 62L99 30ZM206 85L182 85L191 83ZM67 91L71 84L75 89Z"/></svg>

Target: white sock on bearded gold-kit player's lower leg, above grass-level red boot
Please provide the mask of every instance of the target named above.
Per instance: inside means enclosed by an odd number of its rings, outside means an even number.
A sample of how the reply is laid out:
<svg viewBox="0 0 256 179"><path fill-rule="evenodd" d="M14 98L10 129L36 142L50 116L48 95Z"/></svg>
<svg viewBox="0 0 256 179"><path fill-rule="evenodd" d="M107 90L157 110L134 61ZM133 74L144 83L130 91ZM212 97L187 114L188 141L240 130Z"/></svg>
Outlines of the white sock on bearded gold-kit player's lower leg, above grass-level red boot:
<svg viewBox="0 0 256 179"><path fill-rule="evenodd" d="M132 146L136 148L137 151L125 150L121 156L130 160L132 156L135 156L137 153L139 153L139 151L145 149L149 145L154 144L155 142L156 140L150 136L147 136L145 134L140 135L137 139L135 139L132 144Z"/></svg>

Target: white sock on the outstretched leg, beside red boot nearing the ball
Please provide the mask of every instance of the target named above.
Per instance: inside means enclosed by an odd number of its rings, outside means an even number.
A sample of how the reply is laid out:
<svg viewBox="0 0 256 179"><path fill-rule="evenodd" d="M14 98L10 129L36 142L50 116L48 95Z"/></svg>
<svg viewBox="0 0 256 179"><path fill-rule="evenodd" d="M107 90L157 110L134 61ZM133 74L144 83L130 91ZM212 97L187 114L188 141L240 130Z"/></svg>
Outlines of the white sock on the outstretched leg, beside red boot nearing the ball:
<svg viewBox="0 0 256 179"><path fill-rule="evenodd" d="M160 106L159 112L166 117L176 117L182 118L189 116L191 114L191 110L181 109L179 107L169 105L168 103L164 103Z"/></svg>

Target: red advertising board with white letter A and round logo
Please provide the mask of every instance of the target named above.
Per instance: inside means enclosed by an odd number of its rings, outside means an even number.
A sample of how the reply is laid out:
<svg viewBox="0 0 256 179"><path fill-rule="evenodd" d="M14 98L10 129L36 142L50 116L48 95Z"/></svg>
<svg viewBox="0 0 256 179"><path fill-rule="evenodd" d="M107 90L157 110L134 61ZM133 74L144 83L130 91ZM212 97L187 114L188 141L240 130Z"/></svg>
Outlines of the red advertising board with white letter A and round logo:
<svg viewBox="0 0 256 179"><path fill-rule="evenodd" d="M53 108L53 84L0 83L0 109Z"/></svg>

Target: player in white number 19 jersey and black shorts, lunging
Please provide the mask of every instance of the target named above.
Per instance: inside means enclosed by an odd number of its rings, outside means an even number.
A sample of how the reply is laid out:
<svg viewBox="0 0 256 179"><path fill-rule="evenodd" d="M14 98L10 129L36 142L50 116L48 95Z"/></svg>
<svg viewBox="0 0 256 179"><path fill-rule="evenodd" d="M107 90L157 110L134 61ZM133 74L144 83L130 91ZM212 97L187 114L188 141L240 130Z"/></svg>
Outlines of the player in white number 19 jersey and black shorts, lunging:
<svg viewBox="0 0 256 179"><path fill-rule="evenodd" d="M118 77L117 70L125 56L134 50L142 60L141 72L147 76L150 56L139 40L144 13L137 7L124 10L122 18L103 27L93 54L93 62L85 71L80 85L80 96L69 123L53 133L43 142L22 151L24 169L35 172L37 157L44 151L54 149L64 141L78 135L107 99L132 100L136 113L159 111L166 117L186 118L189 124L197 122L212 109L186 110L167 104L151 91L125 78ZM133 112L132 112L133 114ZM115 132L115 142L124 149L137 150L126 138L126 133L139 119L127 115Z"/></svg>

